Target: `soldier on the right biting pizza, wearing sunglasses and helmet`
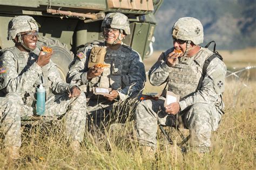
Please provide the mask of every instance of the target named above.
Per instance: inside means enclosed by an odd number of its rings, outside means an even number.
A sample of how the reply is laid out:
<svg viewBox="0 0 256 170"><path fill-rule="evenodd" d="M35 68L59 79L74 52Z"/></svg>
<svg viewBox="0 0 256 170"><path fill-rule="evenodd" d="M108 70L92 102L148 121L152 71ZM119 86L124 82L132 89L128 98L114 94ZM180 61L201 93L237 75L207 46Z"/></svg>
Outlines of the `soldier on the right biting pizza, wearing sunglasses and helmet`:
<svg viewBox="0 0 256 170"><path fill-rule="evenodd" d="M208 152L211 131L217 130L223 115L221 93L224 91L226 66L214 58L199 84L205 60L213 54L199 46L203 42L203 25L196 18L184 17L172 27L173 47L160 55L149 71L153 86L168 84L168 91L180 96L178 102L164 107L165 96L145 100L136 110L136 130L140 144L155 151L158 124L185 127L191 134L190 147ZM174 49L180 49L181 54ZM181 121L179 121L181 120Z"/></svg>

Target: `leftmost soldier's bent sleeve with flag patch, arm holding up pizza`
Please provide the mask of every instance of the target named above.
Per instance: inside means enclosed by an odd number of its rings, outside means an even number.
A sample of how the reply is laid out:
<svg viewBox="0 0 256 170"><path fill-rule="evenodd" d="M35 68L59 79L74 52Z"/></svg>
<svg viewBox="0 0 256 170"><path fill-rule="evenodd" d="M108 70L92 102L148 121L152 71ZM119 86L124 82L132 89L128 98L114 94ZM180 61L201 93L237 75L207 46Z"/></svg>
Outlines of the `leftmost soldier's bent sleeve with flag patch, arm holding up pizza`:
<svg viewBox="0 0 256 170"><path fill-rule="evenodd" d="M19 75L17 73L17 59L10 51L4 52L1 60L1 67L6 68L6 72L2 76L4 78L3 88L6 88L7 93L24 93L31 90L39 74L42 74L42 68L34 62L26 72Z"/></svg>

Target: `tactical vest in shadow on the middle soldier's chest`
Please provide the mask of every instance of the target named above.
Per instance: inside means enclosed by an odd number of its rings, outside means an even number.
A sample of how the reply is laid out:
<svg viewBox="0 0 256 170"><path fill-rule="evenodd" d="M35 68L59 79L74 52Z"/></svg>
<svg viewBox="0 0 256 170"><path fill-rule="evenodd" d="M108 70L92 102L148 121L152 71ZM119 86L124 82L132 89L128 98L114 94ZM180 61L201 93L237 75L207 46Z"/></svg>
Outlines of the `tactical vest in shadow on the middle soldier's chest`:
<svg viewBox="0 0 256 170"><path fill-rule="evenodd" d="M132 49L129 46L122 45L117 50L107 48L104 63L109 64L110 68L104 68L102 76L93 78L89 83L89 90L92 87L112 88L114 90L121 89L126 84L122 83L122 75L129 71L129 56Z"/></svg>

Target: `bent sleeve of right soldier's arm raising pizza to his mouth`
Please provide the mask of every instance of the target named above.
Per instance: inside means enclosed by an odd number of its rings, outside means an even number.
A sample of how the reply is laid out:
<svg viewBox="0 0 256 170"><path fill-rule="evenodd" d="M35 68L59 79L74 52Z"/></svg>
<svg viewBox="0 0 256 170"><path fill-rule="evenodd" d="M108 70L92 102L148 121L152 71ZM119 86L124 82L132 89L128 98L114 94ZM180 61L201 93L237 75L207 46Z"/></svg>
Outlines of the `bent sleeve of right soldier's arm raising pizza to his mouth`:
<svg viewBox="0 0 256 170"><path fill-rule="evenodd" d="M168 51L162 53L159 56L158 61L154 63L154 65L149 70L149 80L153 86L160 86L161 84L167 81L167 77L169 76L169 73L172 70L172 67L169 67L166 64L165 56L168 53Z"/></svg>

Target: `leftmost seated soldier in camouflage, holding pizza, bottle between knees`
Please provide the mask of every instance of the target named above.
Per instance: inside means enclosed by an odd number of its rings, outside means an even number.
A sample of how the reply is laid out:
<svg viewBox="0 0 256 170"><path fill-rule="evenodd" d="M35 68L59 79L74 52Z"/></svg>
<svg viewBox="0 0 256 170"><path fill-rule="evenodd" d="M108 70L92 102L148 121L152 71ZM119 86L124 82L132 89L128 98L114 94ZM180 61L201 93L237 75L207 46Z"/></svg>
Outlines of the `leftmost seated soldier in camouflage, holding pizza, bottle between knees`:
<svg viewBox="0 0 256 170"><path fill-rule="evenodd" d="M11 155L18 154L21 121L36 116L36 91L39 84L43 84L46 104L42 117L53 120L65 115L67 138L74 150L79 149L86 122L84 93L60 79L56 65L50 60L54 52L45 54L36 48L38 25L35 19L30 16L12 18L8 39L13 40L15 46L2 51L0 62L0 89L6 94L1 98L0 112L6 148Z"/></svg>

